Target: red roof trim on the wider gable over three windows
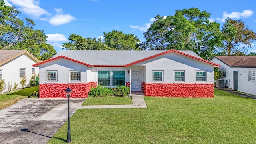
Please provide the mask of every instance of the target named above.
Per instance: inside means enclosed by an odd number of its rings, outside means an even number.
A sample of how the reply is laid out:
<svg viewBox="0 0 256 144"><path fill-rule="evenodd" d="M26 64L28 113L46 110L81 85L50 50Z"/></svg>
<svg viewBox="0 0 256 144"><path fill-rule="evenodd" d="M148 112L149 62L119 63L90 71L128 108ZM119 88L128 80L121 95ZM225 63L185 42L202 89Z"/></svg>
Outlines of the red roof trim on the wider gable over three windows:
<svg viewBox="0 0 256 144"><path fill-rule="evenodd" d="M144 58L144 59L142 59L142 60L138 60L138 61L136 61L136 62L132 62L132 63L130 63L130 64L126 64L126 65L124 65L124 66L125 66L125 67L131 66L131 65L133 65L133 64L137 64L137 63L139 63L139 62L143 62L143 61L145 61L145 60L149 60L149 59L151 59L151 58L155 58L155 57L157 57L157 56L161 56L161 55L167 54L167 53L169 53L169 52L176 52L176 53L178 53L178 54L182 54L182 55L184 55L184 56L188 56L188 57L190 57L190 58L193 58L193 59L196 59L196 60L200 60L200 61L202 61L202 62L206 62L206 63L208 63L208 64L212 64L212 65L214 65L214 66L220 67L219 64L215 64L215 63L213 63L213 62L209 62L209 61L207 61L207 60L204 60L204 59L201 59L201 58L197 58L197 57L195 57L195 56L191 56L191 55L189 55L189 54L185 54L185 53L179 52L179 51L177 51L177 50L168 50L168 51L165 51L165 52L156 54L156 55L154 55L154 56L150 56L150 57L148 57L148 58Z"/></svg>

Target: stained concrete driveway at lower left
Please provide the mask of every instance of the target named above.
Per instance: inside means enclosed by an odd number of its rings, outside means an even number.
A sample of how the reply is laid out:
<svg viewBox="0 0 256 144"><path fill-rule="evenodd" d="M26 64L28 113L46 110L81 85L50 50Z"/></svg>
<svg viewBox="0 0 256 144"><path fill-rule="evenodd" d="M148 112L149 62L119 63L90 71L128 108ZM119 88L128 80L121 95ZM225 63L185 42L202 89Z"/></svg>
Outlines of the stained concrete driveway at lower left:
<svg viewBox="0 0 256 144"><path fill-rule="evenodd" d="M70 117L84 100L70 99ZM67 119L67 98L25 98L0 110L0 144L46 144Z"/></svg>

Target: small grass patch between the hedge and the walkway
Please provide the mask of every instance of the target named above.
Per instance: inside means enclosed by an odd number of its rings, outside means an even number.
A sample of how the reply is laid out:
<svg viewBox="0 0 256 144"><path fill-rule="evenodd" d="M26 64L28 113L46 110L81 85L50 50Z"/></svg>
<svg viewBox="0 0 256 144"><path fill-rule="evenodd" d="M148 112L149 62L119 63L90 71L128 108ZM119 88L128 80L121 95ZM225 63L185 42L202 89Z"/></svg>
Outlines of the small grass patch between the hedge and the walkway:
<svg viewBox="0 0 256 144"><path fill-rule="evenodd" d="M119 105L119 104L132 104L131 97L118 97L118 96L106 96L106 97L89 97L86 98L82 105Z"/></svg>

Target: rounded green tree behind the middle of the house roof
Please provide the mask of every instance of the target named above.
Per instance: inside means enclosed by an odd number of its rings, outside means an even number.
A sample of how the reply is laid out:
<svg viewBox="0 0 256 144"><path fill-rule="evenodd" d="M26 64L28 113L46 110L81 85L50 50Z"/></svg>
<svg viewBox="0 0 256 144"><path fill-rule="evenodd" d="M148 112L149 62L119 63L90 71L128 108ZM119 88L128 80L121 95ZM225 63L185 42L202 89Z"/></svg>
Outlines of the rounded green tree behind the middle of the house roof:
<svg viewBox="0 0 256 144"><path fill-rule="evenodd" d="M140 39L133 34L124 34L122 31L117 30L103 32L103 34L105 44L113 50L139 50Z"/></svg>

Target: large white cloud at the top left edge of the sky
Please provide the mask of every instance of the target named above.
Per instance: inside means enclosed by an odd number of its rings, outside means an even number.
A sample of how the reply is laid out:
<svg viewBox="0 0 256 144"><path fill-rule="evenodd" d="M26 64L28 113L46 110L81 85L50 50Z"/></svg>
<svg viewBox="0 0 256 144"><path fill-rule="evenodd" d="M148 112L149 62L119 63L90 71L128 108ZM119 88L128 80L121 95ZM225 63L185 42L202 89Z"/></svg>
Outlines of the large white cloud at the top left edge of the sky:
<svg viewBox="0 0 256 144"><path fill-rule="evenodd" d="M18 10L32 16L35 19L40 18L42 15L50 16L50 13L40 8L39 2L35 0L9 0L13 5L18 6Z"/></svg>

